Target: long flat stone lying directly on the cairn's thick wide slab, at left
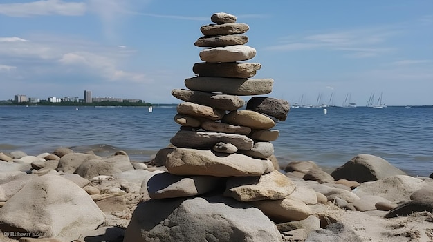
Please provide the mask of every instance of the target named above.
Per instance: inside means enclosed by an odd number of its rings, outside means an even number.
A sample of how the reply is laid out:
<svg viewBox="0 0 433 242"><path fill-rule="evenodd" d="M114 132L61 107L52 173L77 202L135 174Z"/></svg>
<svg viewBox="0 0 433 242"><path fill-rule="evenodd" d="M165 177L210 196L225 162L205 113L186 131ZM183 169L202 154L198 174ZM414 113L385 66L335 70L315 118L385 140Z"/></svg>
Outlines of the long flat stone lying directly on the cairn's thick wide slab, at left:
<svg viewBox="0 0 433 242"><path fill-rule="evenodd" d="M254 142L241 134L225 134L218 132L194 132L187 130L178 131L170 143L176 147L212 149L215 143L231 143L239 150L250 150Z"/></svg>

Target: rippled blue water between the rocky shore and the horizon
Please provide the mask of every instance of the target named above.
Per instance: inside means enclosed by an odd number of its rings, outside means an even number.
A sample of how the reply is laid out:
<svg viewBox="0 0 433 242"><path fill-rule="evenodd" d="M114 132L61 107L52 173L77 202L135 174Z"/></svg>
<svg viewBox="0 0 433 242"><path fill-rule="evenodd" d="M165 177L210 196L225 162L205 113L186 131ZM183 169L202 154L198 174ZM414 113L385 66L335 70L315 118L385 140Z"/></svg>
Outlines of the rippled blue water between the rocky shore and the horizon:
<svg viewBox="0 0 433 242"><path fill-rule="evenodd" d="M125 150L149 161L178 131L176 108L0 106L0 152L30 155L69 147L102 156ZM315 161L336 168L357 154L374 154L414 176L433 172L433 108L292 109L273 141L282 165Z"/></svg>

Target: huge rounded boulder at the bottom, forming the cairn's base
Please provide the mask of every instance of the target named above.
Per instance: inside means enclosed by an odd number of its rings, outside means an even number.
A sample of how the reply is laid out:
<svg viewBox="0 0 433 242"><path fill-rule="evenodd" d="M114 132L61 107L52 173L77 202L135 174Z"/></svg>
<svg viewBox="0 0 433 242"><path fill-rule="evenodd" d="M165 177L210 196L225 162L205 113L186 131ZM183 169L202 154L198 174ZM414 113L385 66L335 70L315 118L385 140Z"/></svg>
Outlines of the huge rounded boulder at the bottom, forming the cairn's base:
<svg viewBox="0 0 433 242"><path fill-rule="evenodd" d="M279 241L277 227L257 208L234 199L196 197L140 203L125 232L139 241Z"/></svg>

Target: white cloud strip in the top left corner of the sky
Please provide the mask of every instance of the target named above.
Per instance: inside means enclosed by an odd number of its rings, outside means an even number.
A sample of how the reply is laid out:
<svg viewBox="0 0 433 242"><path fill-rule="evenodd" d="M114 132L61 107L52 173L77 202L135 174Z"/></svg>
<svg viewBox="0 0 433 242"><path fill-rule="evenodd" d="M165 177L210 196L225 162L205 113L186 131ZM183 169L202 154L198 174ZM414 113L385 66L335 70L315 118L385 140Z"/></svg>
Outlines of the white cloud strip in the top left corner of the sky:
<svg viewBox="0 0 433 242"><path fill-rule="evenodd" d="M39 0L30 3L0 4L0 14L10 17L32 17L37 15L77 16L85 12L85 3L62 0Z"/></svg>

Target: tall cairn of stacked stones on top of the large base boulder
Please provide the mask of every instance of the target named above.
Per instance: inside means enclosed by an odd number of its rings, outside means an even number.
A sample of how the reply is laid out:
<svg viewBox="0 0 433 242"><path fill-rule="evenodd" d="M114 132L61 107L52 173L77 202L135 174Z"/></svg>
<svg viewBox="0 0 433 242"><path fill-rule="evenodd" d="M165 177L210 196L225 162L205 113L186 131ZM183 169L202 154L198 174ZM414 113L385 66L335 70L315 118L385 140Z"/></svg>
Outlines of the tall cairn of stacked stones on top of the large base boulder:
<svg viewBox="0 0 433 242"><path fill-rule="evenodd" d="M213 14L211 21L214 24L201 27L204 36L194 43L203 47L199 55L204 61L194 64L196 77L185 80L188 89L172 90L184 101L174 117L181 129L170 140L174 148L157 154L167 172L153 172L157 174L143 181L150 199L146 203L212 194L258 208L275 228L275 223L306 219L311 209L291 196L296 185L279 172L270 143L279 136L270 129L286 120L289 103L251 97L242 109L245 101L239 96L269 94L273 79L252 79L261 64L240 62L256 54L245 45L246 23L236 23L237 17L226 13Z"/></svg>

